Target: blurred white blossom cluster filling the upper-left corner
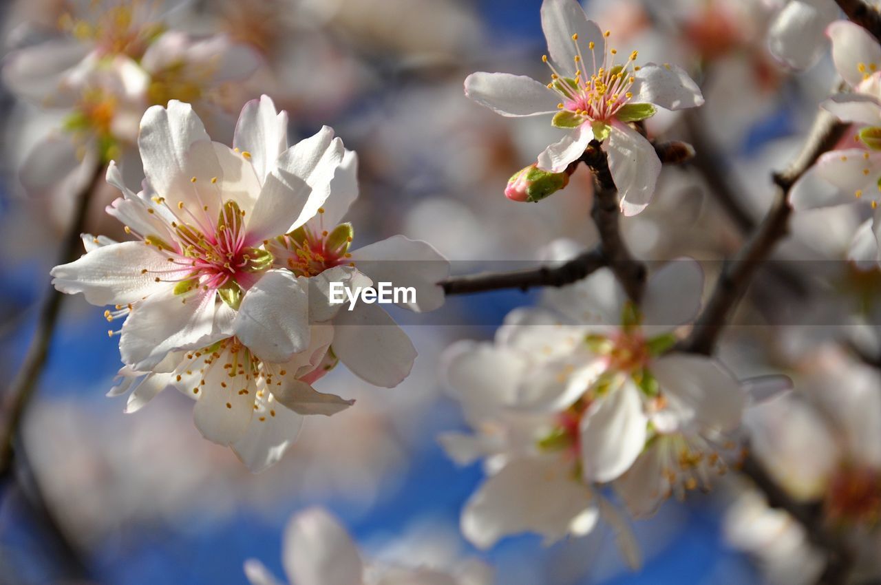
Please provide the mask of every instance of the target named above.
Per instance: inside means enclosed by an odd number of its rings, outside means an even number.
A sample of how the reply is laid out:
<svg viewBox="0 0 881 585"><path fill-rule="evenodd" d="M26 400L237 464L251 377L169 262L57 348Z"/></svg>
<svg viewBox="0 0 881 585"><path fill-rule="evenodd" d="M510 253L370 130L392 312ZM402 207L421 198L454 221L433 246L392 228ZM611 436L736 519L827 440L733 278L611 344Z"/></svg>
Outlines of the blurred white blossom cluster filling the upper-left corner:
<svg viewBox="0 0 881 585"><path fill-rule="evenodd" d="M225 86L248 78L259 64L253 49L226 35L196 39L166 32L157 3L91 4L65 12L59 30L34 35L4 63L4 82L13 93L70 112L61 131L25 161L21 177L31 192L61 181L90 153L115 159L139 181L133 146L147 107L184 100L219 123L226 117ZM56 164L47 161L50 148Z"/></svg>

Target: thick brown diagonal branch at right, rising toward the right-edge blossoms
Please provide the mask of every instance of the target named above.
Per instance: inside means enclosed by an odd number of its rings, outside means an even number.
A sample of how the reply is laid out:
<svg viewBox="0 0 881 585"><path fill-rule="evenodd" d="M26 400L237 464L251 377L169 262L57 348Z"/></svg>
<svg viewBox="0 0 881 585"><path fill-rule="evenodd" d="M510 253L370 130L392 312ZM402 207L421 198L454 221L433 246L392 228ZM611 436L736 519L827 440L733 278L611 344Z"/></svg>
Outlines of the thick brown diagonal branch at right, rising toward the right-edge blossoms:
<svg viewBox="0 0 881 585"><path fill-rule="evenodd" d="M756 270L788 233L788 220L792 213L790 189L823 152L833 148L843 136L845 128L845 124L820 110L802 151L785 171L774 174L774 183L777 185L774 204L744 247L722 269L713 294L694 324L692 334L680 344L679 349L706 355L713 353L717 338L737 307L737 301L749 288Z"/></svg>

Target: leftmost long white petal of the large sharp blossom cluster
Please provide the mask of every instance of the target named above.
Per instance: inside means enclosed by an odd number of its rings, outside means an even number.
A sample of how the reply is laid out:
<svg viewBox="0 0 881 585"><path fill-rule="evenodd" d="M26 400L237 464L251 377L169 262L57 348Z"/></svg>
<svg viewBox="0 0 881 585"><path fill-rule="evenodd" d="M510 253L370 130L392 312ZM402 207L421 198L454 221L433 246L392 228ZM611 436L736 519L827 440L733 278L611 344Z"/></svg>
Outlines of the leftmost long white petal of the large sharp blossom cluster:
<svg viewBox="0 0 881 585"><path fill-rule="evenodd" d="M162 270L168 270L166 255L140 241L123 241L93 249L78 260L56 266L50 274L56 289L82 292L93 305L127 305L166 289L167 283L156 282Z"/></svg>

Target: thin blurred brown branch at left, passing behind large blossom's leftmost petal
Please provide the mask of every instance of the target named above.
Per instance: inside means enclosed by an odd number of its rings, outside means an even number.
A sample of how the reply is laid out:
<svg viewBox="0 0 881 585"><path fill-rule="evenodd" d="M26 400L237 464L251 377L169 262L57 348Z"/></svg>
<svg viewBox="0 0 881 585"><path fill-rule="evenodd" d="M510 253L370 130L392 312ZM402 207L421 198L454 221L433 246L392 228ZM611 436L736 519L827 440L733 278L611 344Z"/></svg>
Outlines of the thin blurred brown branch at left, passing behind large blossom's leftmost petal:
<svg viewBox="0 0 881 585"><path fill-rule="evenodd" d="M93 172L92 179L78 193L74 217L59 250L59 264L71 262L78 257L83 245L79 236L85 231L85 218L92 200L92 193L103 179L104 167L98 165ZM4 429L0 433L0 481L8 478L11 473L16 449L15 443L21 422L33 396L33 391L37 387L37 382L40 381L43 366L46 364L49 344L55 332L63 298L63 292L58 292L55 288L49 290L25 360L19 368L19 374L12 381L6 396L4 396L7 402L4 410L8 414Z"/></svg>

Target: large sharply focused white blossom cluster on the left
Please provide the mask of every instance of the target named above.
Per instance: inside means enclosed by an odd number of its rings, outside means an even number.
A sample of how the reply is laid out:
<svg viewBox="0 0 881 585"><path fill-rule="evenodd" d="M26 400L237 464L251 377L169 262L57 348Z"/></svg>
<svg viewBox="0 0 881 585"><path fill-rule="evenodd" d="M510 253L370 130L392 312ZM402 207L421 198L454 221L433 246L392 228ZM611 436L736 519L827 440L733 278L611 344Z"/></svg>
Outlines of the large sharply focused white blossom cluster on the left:
<svg viewBox="0 0 881 585"><path fill-rule="evenodd" d="M107 173L123 193L107 212L137 240L85 237L86 254L52 270L58 290L115 305L108 321L125 318L112 394L130 391L127 411L176 387L197 400L205 438L260 470L294 441L300 414L352 404L311 385L338 360L381 386L410 373L416 352L403 330L381 307L330 305L329 283L372 285L369 274L413 286L406 306L431 310L449 264L402 236L348 251L352 226L337 224L358 194L357 159L333 130L289 148L287 116L263 96L242 111L229 148L172 100L144 115L139 144L141 192L114 164Z"/></svg>

